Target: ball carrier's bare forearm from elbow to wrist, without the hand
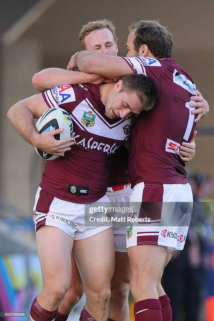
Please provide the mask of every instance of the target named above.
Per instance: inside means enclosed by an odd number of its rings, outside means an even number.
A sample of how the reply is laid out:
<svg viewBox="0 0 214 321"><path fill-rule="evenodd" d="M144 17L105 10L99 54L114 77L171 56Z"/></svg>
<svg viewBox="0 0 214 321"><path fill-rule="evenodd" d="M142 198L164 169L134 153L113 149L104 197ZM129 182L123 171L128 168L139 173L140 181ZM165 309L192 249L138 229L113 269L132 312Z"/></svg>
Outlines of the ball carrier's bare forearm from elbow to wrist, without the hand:
<svg viewBox="0 0 214 321"><path fill-rule="evenodd" d="M41 135L38 134L33 125L33 115L29 108L19 102L9 109L7 117L16 132L26 142L33 146L38 144Z"/></svg>

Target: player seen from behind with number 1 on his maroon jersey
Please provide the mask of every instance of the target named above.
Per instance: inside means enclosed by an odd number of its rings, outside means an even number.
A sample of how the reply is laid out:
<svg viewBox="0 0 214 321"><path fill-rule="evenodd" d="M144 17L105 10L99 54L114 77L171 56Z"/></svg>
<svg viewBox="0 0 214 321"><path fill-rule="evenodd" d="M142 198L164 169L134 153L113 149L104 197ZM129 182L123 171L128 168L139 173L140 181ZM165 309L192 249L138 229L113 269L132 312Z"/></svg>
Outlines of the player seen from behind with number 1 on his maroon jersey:
<svg viewBox="0 0 214 321"><path fill-rule="evenodd" d="M183 248L188 230L180 224L176 227L173 215L177 202L192 202L179 149L182 141L190 142L195 123L209 108L206 101L205 109L201 108L194 82L172 59L172 35L166 28L156 21L140 21L129 31L126 58L82 51L71 58L68 69L78 67L112 79L143 73L157 85L155 107L135 118L129 150L131 202L141 204L138 218L149 213L154 224L130 224L127 247L135 320L168 321L172 311L160 280L172 251ZM195 110L191 109L193 100ZM160 206L155 207L155 202ZM163 225L166 213L168 220Z"/></svg>

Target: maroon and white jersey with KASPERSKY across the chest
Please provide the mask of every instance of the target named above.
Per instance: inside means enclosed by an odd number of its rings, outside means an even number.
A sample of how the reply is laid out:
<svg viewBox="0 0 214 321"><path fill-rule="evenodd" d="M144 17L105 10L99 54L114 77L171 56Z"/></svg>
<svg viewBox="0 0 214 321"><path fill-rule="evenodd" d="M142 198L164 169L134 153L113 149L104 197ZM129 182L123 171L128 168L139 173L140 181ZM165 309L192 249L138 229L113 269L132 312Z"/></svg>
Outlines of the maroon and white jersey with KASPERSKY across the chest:
<svg viewBox="0 0 214 321"><path fill-rule="evenodd" d="M48 107L70 114L74 126L75 144L64 157L46 161L40 183L62 200L82 204L104 196L114 152L130 135L131 118L105 116L99 86L57 86L42 93Z"/></svg>

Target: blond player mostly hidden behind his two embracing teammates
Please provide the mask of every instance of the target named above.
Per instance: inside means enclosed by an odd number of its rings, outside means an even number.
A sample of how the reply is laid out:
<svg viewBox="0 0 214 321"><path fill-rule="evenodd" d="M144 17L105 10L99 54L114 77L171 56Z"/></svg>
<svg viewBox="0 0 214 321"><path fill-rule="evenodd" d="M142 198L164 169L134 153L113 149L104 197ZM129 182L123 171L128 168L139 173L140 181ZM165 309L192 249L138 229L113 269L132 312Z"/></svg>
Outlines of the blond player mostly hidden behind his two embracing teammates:
<svg viewBox="0 0 214 321"><path fill-rule="evenodd" d="M111 22L108 22L105 19L89 22L88 24L83 26L79 34L79 39L83 50L88 49L113 56L116 56L117 54L117 39L114 26ZM49 68L35 74L33 77L33 84L38 90L45 90L45 88L49 88L57 83L72 83L72 75L73 74L66 73L66 71L60 70L58 68ZM87 82L88 80L86 79L85 81ZM199 101L200 100L204 102L202 96L199 96ZM194 137L192 138L193 146ZM184 154L183 157L185 158L183 158L183 160L187 161L192 157L192 149L189 149L189 153L187 153L187 146L191 145L186 142L184 142L183 144L184 146L181 146L181 149L183 149L183 151L181 151L181 154ZM131 189L129 187L129 178L126 171L127 152L121 147L116 152L114 157L115 161L111 170L112 179L109 183L108 190L110 190L111 187L112 188L111 192L108 192L107 195L113 198L111 199L112 201L117 201L121 202L121 204L124 204L122 202L128 202L128 198L131 194ZM128 292L130 272L129 260L125 252L126 230L124 226L115 226L113 227L113 232L116 250L116 267L111 284L112 293L111 299L109 301L108 317L114 320L127 321L129 320ZM67 319L71 308L79 300L79 297L81 297L83 292L81 281L78 277L78 269L76 269L76 271L77 273L75 274L72 272L73 282L71 282L71 287L66 293L65 299L62 301L58 309L58 314L60 314L60 317L64 317L63 320Z"/></svg>

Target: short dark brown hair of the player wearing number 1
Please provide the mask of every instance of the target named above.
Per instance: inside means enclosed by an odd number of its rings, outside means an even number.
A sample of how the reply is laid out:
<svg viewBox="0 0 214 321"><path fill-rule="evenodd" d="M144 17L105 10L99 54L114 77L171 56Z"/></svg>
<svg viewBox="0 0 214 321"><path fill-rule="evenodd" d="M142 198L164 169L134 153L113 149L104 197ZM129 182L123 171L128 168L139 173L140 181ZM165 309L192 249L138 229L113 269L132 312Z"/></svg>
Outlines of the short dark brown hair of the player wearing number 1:
<svg viewBox="0 0 214 321"><path fill-rule="evenodd" d="M172 34L158 21L148 20L134 22L129 26L129 32L135 32L133 41L136 52L142 45L147 45L155 58L171 58L173 40Z"/></svg>

